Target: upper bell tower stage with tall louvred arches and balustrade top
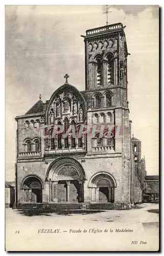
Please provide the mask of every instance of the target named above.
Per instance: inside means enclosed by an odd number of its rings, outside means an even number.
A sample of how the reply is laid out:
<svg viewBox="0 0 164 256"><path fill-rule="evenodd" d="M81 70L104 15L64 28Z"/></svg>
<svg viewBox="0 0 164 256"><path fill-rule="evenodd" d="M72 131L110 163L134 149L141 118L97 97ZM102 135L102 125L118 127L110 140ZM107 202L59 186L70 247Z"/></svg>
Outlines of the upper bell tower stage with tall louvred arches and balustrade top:
<svg viewBox="0 0 164 256"><path fill-rule="evenodd" d="M86 31L86 90L121 86L127 95L127 45L122 23Z"/></svg>

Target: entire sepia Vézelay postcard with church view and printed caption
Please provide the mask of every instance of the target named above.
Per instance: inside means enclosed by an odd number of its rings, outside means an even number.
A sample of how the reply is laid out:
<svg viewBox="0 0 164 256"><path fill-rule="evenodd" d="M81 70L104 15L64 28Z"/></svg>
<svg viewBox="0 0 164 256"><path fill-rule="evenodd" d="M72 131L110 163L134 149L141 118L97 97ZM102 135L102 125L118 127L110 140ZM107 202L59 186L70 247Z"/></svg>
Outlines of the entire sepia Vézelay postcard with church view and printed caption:
<svg viewBox="0 0 164 256"><path fill-rule="evenodd" d="M159 250L159 6L6 6L6 251Z"/></svg>

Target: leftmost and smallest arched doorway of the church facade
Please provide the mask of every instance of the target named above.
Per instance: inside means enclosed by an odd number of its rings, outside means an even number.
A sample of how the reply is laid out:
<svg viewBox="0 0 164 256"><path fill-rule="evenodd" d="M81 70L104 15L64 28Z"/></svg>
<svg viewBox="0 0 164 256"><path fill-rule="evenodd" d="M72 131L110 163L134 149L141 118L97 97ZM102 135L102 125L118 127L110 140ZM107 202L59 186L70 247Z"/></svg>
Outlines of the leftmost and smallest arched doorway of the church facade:
<svg viewBox="0 0 164 256"><path fill-rule="evenodd" d="M21 184L23 201L26 203L42 203L43 182L40 177L30 175L24 178Z"/></svg>

